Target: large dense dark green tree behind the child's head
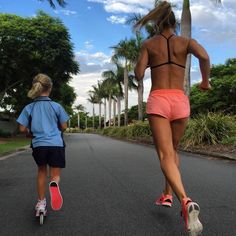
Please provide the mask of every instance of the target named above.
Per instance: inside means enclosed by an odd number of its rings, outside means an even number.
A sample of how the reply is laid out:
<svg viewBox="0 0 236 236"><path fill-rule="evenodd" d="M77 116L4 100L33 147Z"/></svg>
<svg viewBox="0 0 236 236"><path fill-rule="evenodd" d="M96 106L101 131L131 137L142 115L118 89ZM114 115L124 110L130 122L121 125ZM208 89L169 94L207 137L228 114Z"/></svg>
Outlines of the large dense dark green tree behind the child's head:
<svg viewBox="0 0 236 236"><path fill-rule="evenodd" d="M0 14L0 41L1 107L10 105L19 112L29 103L26 94L39 72L53 80L52 99L72 105L75 93L67 83L79 72L79 65L68 30L59 19L43 12L29 18Z"/></svg>

